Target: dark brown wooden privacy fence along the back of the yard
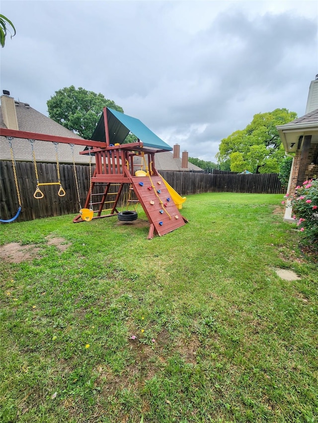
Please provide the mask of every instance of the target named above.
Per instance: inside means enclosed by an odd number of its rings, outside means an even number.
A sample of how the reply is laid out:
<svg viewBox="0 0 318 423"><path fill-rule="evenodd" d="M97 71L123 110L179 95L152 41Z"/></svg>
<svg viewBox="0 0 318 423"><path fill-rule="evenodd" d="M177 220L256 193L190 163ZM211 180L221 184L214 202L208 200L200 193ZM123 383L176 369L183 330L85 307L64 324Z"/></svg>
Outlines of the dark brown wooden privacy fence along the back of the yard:
<svg viewBox="0 0 318 423"><path fill-rule="evenodd" d="M37 163L40 182L57 182L56 165ZM89 188L89 167L77 165L79 196L84 206ZM94 168L92 168L93 172ZM58 196L59 185L41 186L44 198L33 197L36 188L34 167L31 162L16 162L16 174L19 183L22 211L17 222L37 218L78 214L79 199L71 164L60 164L64 197ZM202 174L194 172L161 171L160 175L180 194L198 194L202 192L245 192L264 194L285 194L276 174ZM128 198L128 184L125 184L119 206L125 207ZM0 216L7 220L16 214L18 199L14 183L12 163L0 161Z"/></svg>

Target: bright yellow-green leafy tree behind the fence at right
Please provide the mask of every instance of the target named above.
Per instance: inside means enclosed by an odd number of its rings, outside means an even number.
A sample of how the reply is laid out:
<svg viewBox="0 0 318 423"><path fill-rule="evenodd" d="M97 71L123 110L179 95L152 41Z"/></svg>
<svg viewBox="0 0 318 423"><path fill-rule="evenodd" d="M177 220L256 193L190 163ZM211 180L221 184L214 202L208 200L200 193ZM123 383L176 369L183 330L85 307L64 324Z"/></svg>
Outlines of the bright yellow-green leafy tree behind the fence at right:
<svg viewBox="0 0 318 423"><path fill-rule="evenodd" d="M295 118L297 114L287 109L254 115L245 129L237 130L221 141L218 162L221 166L230 164L232 172L278 173L285 151L276 125Z"/></svg>

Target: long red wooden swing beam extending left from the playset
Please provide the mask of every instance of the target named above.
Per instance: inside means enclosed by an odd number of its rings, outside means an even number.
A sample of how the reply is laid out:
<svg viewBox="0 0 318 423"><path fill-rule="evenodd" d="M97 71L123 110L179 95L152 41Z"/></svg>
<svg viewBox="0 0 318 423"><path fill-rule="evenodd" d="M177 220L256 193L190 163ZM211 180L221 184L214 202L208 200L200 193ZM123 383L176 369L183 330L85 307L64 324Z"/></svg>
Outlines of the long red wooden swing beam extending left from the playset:
<svg viewBox="0 0 318 423"><path fill-rule="evenodd" d="M6 129L6 128L0 128L0 135L10 136L13 138L35 139L37 141L51 141L51 142L61 142L64 144L84 145L89 147L102 148L106 146L106 144L102 141L93 141L91 139L71 138L66 136L41 134L38 132L17 131L15 129ZM85 152L85 154L87 153L88 151Z"/></svg>

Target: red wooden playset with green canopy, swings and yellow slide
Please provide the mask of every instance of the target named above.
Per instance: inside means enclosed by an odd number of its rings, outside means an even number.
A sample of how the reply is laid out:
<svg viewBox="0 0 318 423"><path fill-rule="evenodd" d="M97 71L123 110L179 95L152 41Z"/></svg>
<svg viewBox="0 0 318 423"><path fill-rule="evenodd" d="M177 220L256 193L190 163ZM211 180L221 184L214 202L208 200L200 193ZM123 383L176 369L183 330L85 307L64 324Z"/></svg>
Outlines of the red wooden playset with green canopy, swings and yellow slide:
<svg viewBox="0 0 318 423"><path fill-rule="evenodd" d="M138 141L123 144L129 132L132 132ZM154 234L165 235L182 227L187 222L179 212L185 197L178 196L173 188L159 175L155 167L155 153L170 151L172 148L138 119L104 108L90 140L5 128L1 128L0 133L8 139L17 137L54 143L61 142L70 144L71 148L74 144L85 146L80 154L90 156L90 188L84 208L81 208L79 198L80 210L79 215L74 219L75 223L117 215L119 213L117 209L118 201L124 184L129 184L129 189L134 191L137 201L147 215L150 222L148 239L152 239ZM92 155L95 156L93 174L91 174ZM134 161L136 156L142 158L145 171L141 170L140 165L136 165L136 160ZM78 188L74 156L73 162ZM60 179L58 182L61 184ZM38 178L37 183L38 186L45 184L44 182L39 183ZM176 201L176 198L181 200ZM105 214L105 211L108 211L108 213Z"/></svg>

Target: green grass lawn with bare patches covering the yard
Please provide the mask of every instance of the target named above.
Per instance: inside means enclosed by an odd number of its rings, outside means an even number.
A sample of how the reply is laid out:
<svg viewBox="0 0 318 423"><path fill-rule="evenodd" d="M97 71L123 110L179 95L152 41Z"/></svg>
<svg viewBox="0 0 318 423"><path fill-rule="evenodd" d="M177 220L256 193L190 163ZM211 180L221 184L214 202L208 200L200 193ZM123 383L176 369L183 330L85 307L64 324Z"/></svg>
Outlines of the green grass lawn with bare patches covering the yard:
<svg viewBox="0 0 318 423"><path fill-rule="evenodd" d="M153 240L140 206L1 225L34 245L1 260L0 421L318 422L318 266L281 200L191 195Z"/></svg>

